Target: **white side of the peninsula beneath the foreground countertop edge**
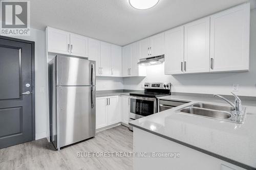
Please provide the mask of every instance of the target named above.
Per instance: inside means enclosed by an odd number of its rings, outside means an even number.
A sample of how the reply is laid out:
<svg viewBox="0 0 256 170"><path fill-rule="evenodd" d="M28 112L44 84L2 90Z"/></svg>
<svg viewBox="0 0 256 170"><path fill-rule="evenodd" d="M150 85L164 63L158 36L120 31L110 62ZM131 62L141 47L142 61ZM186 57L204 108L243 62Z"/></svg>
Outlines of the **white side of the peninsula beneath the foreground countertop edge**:
<svg viewBox="0 0 256 170"><path fill-rule="evenodd" d="M148 142L150 141L150 142ZM147 169L197 169L244 170L244 168L204 154L182 144L133 128L134 153L176 153L179 157L135 157L134 170Z"/></svg>

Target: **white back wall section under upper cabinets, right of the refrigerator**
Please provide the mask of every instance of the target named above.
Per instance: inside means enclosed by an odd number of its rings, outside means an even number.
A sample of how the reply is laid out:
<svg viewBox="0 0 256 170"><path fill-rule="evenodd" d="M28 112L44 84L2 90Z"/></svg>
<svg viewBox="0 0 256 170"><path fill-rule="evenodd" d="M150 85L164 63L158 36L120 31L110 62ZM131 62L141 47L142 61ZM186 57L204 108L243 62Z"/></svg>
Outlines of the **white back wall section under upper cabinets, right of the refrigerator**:
<svg viewBox="0 0 256 170"><path fill-rule="evenodd" d="M123 89L123 78L120 77L96 77L96 90Z"/></svg>

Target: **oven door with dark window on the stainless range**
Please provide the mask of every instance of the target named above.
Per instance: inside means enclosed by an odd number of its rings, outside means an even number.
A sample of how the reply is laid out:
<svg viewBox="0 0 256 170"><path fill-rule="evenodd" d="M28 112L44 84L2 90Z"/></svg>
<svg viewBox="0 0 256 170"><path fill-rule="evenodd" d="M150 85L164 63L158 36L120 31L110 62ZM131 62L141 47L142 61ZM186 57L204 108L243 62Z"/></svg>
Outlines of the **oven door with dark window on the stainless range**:
<svg viewBox="0 0 256 170"><path fill-rule="evenodd" d="M156 98L144 98L131 96L130 113L135 114L134 118L148 116L157 112Z"/></svg>

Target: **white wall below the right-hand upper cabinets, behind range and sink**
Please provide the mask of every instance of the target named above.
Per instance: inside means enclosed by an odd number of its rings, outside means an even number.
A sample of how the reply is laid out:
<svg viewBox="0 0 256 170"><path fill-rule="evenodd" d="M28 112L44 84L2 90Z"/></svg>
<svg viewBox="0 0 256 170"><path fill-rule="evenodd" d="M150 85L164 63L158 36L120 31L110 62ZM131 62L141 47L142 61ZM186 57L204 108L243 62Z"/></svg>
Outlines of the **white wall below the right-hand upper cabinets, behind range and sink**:
<svg viewBox="0 0 256 170"><path fill-rule="evenodd" d="M163 65L147 67L146 78L124 78L124 89L141 90L144 82L170 82L172 91L230 94L232 84L239 84L238 95L256 96L256 9L251 11L250 71L219 74L164 75Z"/></svg>

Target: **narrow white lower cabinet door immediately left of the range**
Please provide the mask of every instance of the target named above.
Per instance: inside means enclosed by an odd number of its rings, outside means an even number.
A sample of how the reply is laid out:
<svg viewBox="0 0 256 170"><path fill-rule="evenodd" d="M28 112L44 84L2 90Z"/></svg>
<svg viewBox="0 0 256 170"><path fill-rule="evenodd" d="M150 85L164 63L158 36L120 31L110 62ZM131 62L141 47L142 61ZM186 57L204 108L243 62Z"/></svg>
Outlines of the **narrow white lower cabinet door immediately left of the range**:
<svg viewBox="0 0 256 170"><path fill-rule="evenodd" d="M129 123L129 113L130 113L130 97L129 96L121 96L121 113L122 113L122 123Z"/></svg>

